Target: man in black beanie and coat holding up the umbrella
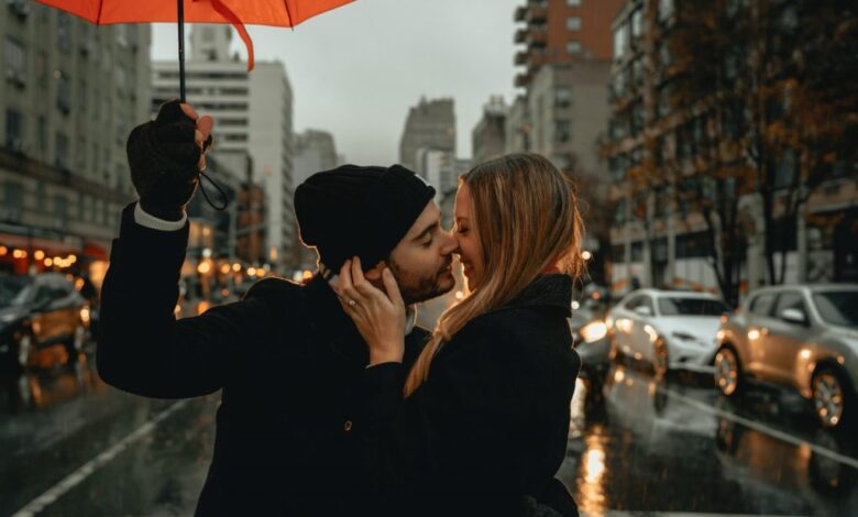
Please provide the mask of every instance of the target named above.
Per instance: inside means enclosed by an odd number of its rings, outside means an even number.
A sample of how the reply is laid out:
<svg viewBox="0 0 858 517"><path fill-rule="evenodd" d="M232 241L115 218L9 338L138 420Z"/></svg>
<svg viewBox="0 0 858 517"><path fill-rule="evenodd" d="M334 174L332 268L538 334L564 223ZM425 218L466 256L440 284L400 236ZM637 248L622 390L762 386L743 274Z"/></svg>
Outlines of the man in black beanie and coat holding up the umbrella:
<svg viewBox="0 0 858 517"><path fill-rule="evenodd" d="M400 167L346 165L295 193L305 244L319 253L306 286L257 282L241 301L176 321L188 242L185 206L205 168L211 119L164 105L128 142L141 200L122 213L102 288L98 367L127 392L158 398L221 389L213 459L197 515L332 515L373 506L353 421L369 352L331 283L361 257L378 285L389 266L406 302L449 292L455 240L435 189ZM406 338L406 366L427 332Z"/></svg>

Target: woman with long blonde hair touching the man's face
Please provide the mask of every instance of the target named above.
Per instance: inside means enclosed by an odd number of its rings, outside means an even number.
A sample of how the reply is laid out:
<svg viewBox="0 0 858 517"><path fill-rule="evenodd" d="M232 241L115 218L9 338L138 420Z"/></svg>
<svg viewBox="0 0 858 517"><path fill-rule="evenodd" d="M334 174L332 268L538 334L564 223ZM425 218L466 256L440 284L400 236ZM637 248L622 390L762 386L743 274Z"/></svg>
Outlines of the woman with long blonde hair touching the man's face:
<svg viewBox="0 0 858 517"><path fill-rule="evenodd" d="M370 348L354 422L367 474L402 515L576 515L553 477L581 365L566 321L583 267L572 182L534 154L477 165L460 178L454 231L470 294L407 377L393 275L385 294L358 261L340 272L340 300Z"/></svg>

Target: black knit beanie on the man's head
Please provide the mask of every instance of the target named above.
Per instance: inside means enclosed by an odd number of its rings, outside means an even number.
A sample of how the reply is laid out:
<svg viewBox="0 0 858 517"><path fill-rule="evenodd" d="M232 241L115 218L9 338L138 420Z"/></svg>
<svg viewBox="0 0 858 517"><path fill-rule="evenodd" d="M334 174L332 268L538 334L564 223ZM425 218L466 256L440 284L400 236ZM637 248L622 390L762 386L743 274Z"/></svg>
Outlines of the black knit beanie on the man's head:
<svg viewBox="0 0 858 517"><path fill-rule="evenodd" d="M402 165L342 165L295 189L301 241L333 273L354 255L369 270L391 254L435 197L435 188Z"/></svg>

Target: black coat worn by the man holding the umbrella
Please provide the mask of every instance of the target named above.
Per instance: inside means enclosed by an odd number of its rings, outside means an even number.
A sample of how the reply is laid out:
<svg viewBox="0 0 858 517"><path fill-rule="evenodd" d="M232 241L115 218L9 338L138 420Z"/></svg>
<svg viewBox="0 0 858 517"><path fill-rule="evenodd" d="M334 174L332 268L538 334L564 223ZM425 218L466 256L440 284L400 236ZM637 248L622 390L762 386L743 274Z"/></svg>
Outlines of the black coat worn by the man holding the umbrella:
<svg viewBox="0 0 858 517"><path fill-rule="evenodd" d="M197 515L360 513L371 499L353 422L369 353L328 283L266 278L241 301L177 321L188 226L152 230L133 208L102 286L98 369L147 397L222 389ZM406 366L427 336L408 336Z"/></svg>

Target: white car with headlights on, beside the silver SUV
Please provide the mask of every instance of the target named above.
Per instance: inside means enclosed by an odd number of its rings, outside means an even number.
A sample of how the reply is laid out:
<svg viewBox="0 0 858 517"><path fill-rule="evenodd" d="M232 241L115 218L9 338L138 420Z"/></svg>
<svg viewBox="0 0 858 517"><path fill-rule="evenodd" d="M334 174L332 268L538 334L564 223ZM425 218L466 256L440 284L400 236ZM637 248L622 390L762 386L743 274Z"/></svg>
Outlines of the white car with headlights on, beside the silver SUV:
<svg viewBox="0 0 858 517"><path fill-rule="evenodd" d="M650 362L657 376L674 369L712 372L718 327L729 310L708 293L635 290L605 318L613 355Z"/></svg>

